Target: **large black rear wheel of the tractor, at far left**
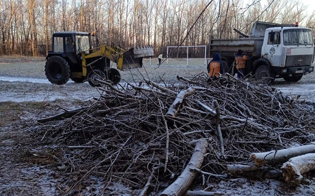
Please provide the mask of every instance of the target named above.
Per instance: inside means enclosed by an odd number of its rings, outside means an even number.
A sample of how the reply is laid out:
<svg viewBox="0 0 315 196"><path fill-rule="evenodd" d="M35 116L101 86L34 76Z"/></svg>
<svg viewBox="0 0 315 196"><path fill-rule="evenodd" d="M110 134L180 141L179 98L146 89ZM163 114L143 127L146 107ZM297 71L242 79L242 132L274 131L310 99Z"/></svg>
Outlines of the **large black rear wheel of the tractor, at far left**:
<svg viewBox="0 0 315 196"><path fill-rule="evenodd" d="M52 56L46 61L45 74L52 84L64 85L70 78L70 66L66 59Z"/></svg>

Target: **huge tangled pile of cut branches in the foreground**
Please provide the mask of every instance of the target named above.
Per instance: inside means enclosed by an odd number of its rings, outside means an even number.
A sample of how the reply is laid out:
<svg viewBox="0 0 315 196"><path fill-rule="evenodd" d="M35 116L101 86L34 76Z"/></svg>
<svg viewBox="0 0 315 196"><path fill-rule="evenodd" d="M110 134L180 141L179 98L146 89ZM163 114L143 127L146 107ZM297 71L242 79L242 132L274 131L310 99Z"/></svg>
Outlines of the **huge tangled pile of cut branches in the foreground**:
<svg viewBox="0 0 315 196"><path fill-rule="evenodd" d="M143 195L178 176L163 194L193 189L195 176L194 184L207 187L228 177L228 165L250 164L251 152L314 141L313 111L273 87L229 74L177 79L115 87L99 81L101 96L89 106L40 119L30 130L37 145L61 150L52 157L58 169L81 180L101 175L104 187L122 180Z"/></svg>

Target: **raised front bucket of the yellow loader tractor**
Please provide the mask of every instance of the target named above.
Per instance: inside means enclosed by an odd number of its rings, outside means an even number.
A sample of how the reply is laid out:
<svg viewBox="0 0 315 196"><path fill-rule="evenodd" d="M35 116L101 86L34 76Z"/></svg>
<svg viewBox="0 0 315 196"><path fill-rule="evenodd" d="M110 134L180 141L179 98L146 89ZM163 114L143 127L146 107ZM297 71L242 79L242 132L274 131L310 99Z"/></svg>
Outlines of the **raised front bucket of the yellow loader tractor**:
<svg viewBox="0 0 315 196"><path fill-rule="evenodd" d="M122 69L132 69L142 67L143 57L152 57L153 49L151 46L137 46L123 53Z"/></svg>

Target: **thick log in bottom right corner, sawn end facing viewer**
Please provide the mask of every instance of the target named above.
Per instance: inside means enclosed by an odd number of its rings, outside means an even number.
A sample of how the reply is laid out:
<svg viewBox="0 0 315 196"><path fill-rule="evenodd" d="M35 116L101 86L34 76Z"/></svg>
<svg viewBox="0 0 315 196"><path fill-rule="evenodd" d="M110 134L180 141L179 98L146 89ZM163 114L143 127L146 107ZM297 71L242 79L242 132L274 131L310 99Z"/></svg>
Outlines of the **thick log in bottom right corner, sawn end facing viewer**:
<svg viewBox="0 0 315 196"><path fill-rule="evenodd" d="M298 185L303 179L302 174L315 170L315 153L295 156L284 163L281 170L288 183Z"/></svg>

